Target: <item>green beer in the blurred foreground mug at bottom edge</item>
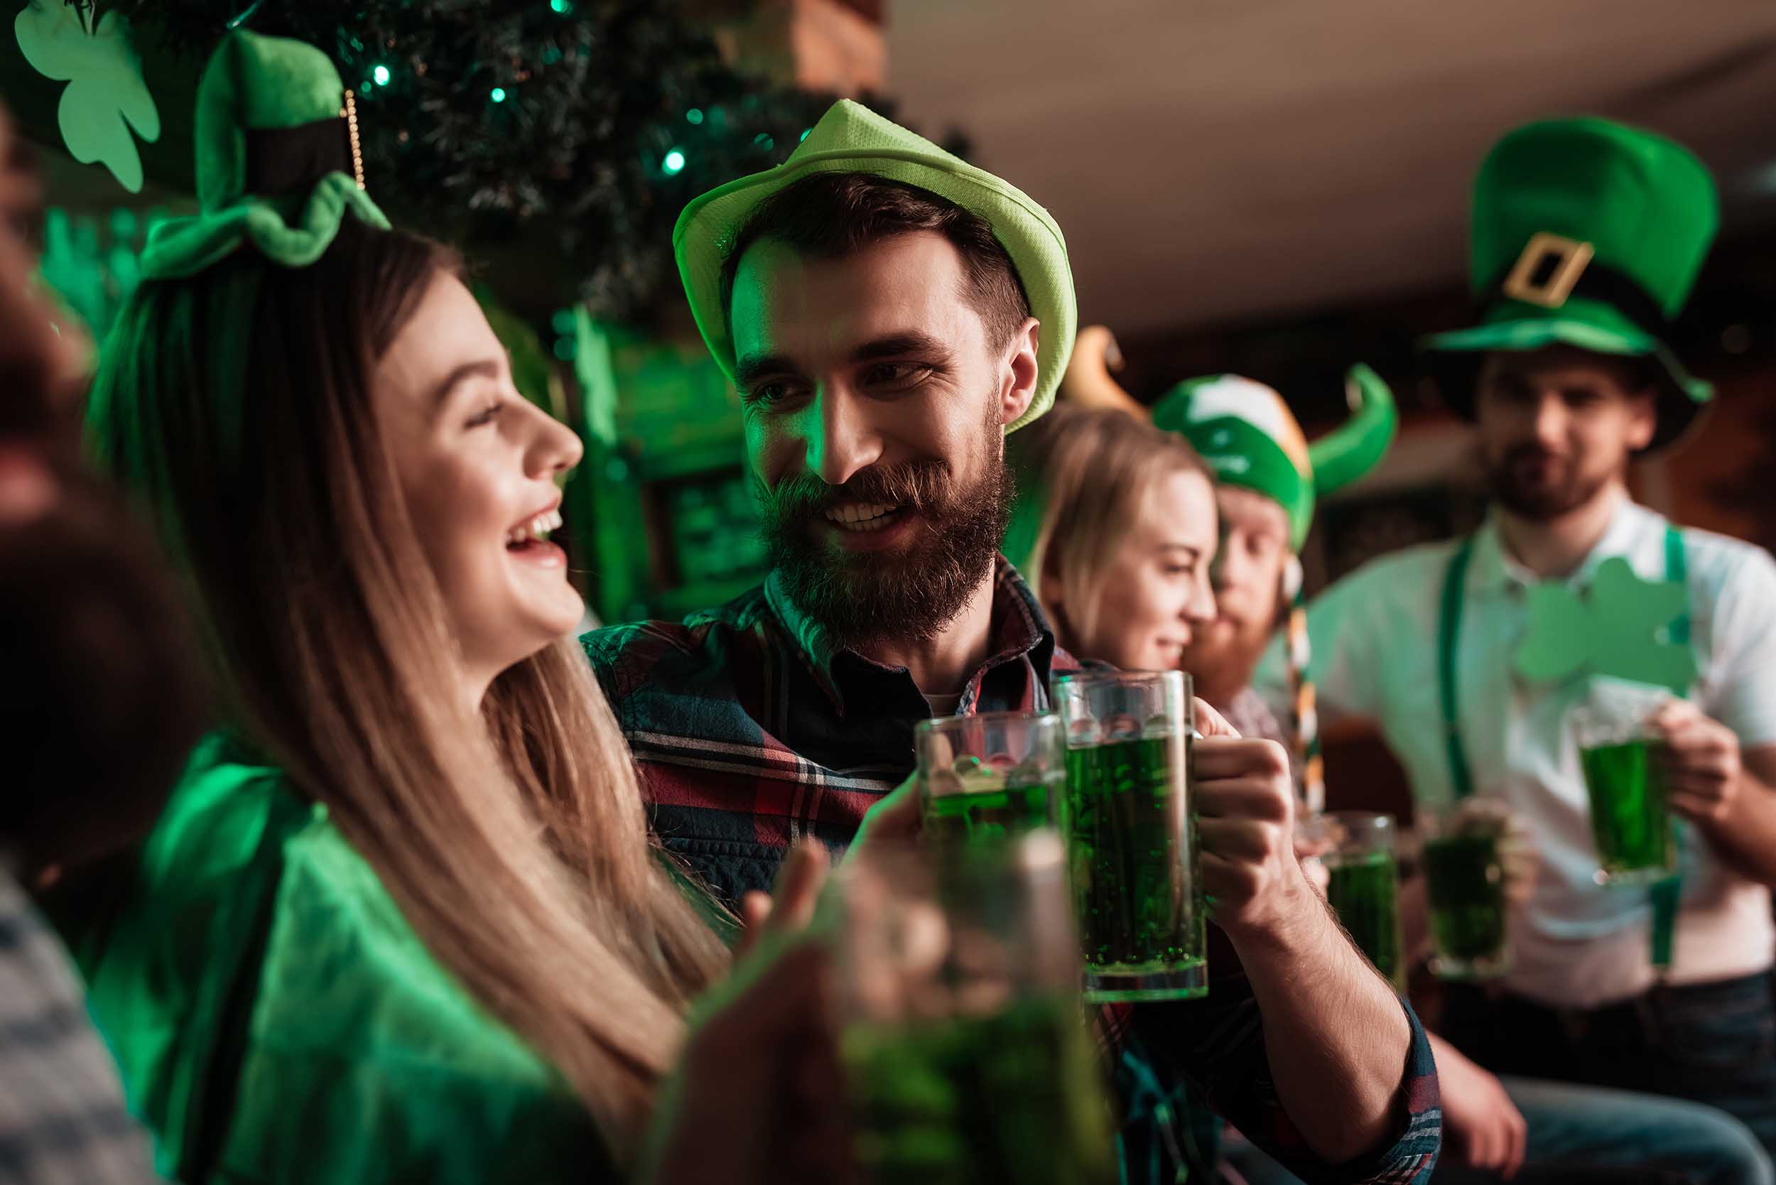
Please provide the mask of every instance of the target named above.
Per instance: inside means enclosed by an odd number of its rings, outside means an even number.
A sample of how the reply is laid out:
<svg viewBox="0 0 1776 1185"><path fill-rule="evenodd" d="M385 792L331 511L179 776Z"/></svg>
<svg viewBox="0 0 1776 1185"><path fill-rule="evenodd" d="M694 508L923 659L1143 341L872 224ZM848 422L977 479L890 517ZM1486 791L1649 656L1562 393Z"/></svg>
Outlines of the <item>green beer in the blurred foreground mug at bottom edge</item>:
<svg viewBox="0 0 1776 1185"><path fill-rule="evenodd" d="M840 1046L870 1185L1108 1185L1110 1114L1078 1006L856 1023Z"/></svg>

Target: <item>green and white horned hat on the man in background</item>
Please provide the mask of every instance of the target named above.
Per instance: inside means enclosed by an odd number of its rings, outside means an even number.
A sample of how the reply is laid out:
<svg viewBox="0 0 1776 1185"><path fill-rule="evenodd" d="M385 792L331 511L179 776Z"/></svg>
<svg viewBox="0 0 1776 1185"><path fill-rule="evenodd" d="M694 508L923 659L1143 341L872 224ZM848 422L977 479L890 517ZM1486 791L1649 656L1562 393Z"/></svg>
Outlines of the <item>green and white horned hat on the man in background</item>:
<svg viewBox="0 0 1776 1185"><path fill-rule="evenodd" d="M1153 423L1177 432L1215 480L1265 494L1289 513L1289 547L1300 551L1314 497L1350 485L1387 453L1399 425L1394 393L1368 366L1344 377L1350 419L1312 444L1282 396L1240 375L1190 378L1153 405Z"/></svg>

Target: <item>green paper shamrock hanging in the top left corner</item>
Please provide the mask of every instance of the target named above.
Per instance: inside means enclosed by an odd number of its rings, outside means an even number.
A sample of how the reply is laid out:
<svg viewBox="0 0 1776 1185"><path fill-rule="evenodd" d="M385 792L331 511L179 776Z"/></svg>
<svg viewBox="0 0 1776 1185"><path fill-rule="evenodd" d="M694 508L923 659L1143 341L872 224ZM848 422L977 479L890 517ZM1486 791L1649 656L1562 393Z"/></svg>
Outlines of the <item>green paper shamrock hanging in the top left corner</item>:
<svg viewBox="0 0 1776 1185"><path fill-rule="evenodd" d="M142 155L135 137L160 139L160 110L142 82L130 21L107 12L92 23L91 4L30 0L12 28L25 60L39 75L67 82L57 123L69 156L83 165L103 163L119 185L140 194Z"/></svg>

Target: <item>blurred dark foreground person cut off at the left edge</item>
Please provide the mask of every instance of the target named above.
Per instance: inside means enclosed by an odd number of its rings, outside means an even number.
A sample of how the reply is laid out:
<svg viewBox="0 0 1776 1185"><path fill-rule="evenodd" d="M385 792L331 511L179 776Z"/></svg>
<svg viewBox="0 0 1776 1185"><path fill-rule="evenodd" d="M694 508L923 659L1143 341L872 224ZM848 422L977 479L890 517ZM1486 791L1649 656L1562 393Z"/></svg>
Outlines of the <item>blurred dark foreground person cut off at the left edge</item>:
<svg viewBox="0 0 1776 1185"><path fill-rule="evenodd" d="M201 721L158 556L75 464L83 338L34 277L39 190L0 110L0 1180L158 1180L34 890L147 830Z"/></svg>

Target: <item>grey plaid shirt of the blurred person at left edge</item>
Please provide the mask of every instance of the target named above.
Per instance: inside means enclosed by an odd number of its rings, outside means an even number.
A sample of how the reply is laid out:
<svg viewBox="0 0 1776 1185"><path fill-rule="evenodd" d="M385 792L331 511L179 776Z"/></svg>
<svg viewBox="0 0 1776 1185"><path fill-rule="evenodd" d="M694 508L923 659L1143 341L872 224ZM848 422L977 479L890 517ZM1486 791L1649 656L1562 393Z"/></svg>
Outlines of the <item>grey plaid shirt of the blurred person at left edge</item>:
<svg viewBox="0 0 1776 1185"><path fill-rule="evenodd" d="M151 1164L67 954L0 869L0 1181L149 1185Z"/></svg>

